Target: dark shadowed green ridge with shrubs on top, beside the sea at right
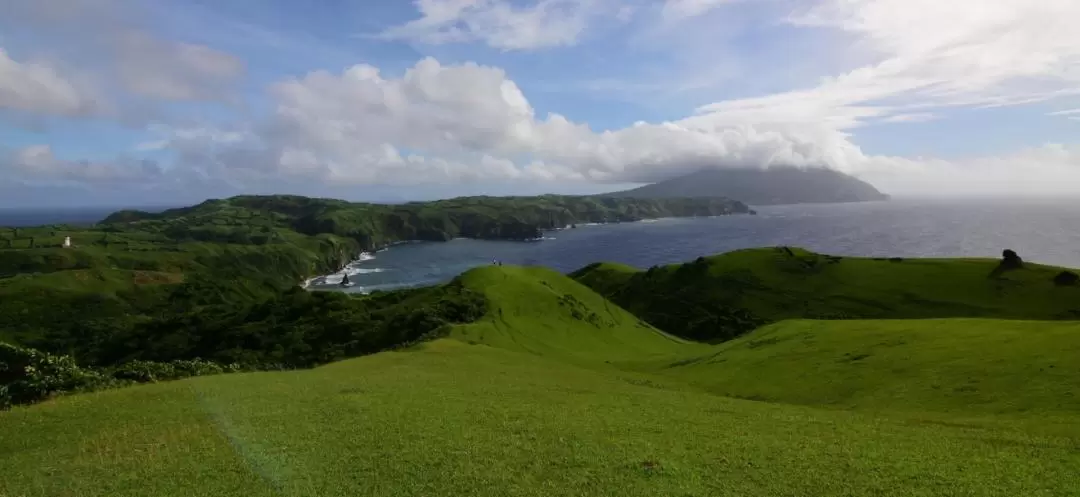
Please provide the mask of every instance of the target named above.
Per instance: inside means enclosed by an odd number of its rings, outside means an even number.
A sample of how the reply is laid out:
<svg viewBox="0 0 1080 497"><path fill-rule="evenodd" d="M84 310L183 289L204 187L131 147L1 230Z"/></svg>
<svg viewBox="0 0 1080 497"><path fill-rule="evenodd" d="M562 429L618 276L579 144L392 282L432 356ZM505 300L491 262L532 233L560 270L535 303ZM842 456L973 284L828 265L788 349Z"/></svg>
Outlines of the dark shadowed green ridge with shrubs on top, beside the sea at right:
<svg viewBox="0 0 1080 497"><path fill-rule="evenodd" d="M787 319L1080 319L1061 268L991 259L835 257L753 249L639 271L595 264L571 274L667 333L719 341Z"/></svg>

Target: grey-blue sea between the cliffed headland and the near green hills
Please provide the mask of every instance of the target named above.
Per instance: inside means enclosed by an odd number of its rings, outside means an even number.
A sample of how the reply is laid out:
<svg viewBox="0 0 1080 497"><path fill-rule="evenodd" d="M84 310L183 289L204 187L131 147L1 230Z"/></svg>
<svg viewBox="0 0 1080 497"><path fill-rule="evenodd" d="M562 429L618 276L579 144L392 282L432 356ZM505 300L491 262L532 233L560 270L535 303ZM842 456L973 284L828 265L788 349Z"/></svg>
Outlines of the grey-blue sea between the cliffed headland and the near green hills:
<svg viewBox="0 0 1080 497"><path fill-rule="evenodd" d="M537 242L459 239L403 244L351 264L346 271L354 286L337 285L339 272L316 279L312 287L370 292L434 284L494 260L563 272L600 260L644 269L775 245L872 257L1000 257L1002 250L1012 249L1025 260L1080 268L1080 199L892 200L757 212L579 226L549 232Z"/></svg>

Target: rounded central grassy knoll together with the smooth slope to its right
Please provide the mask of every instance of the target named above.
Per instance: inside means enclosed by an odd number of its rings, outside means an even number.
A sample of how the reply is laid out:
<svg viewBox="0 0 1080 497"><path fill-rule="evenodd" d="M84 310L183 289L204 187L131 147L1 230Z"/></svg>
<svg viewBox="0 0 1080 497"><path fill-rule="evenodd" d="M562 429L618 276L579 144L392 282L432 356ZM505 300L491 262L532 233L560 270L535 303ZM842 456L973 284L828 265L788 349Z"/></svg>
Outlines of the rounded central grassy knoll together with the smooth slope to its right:
<svg viewBox="0 0 1080 497"><path fill-rule="evenodd" d="M707 346L659 332L549 269L484 267L460 282L488 303L487 315L451 333L468 342L769 402L1080 415L1080 322L791 320Z"/></svg>

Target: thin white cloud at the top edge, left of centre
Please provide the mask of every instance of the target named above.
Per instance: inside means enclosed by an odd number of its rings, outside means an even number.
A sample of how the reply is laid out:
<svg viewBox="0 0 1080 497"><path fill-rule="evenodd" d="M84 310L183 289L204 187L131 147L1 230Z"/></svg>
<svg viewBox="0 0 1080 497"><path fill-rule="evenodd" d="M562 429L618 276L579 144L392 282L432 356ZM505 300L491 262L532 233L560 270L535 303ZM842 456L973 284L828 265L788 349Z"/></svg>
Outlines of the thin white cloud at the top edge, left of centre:
<svg viewBox="0 0 1080 497"><path fill-rule="evenodd" d="M388 40L426 44L482 41L499 50L566 46L578 42L602 0L416 0L420 18L382 31ZM629 15L620 13L620 15Z"/></svg>

